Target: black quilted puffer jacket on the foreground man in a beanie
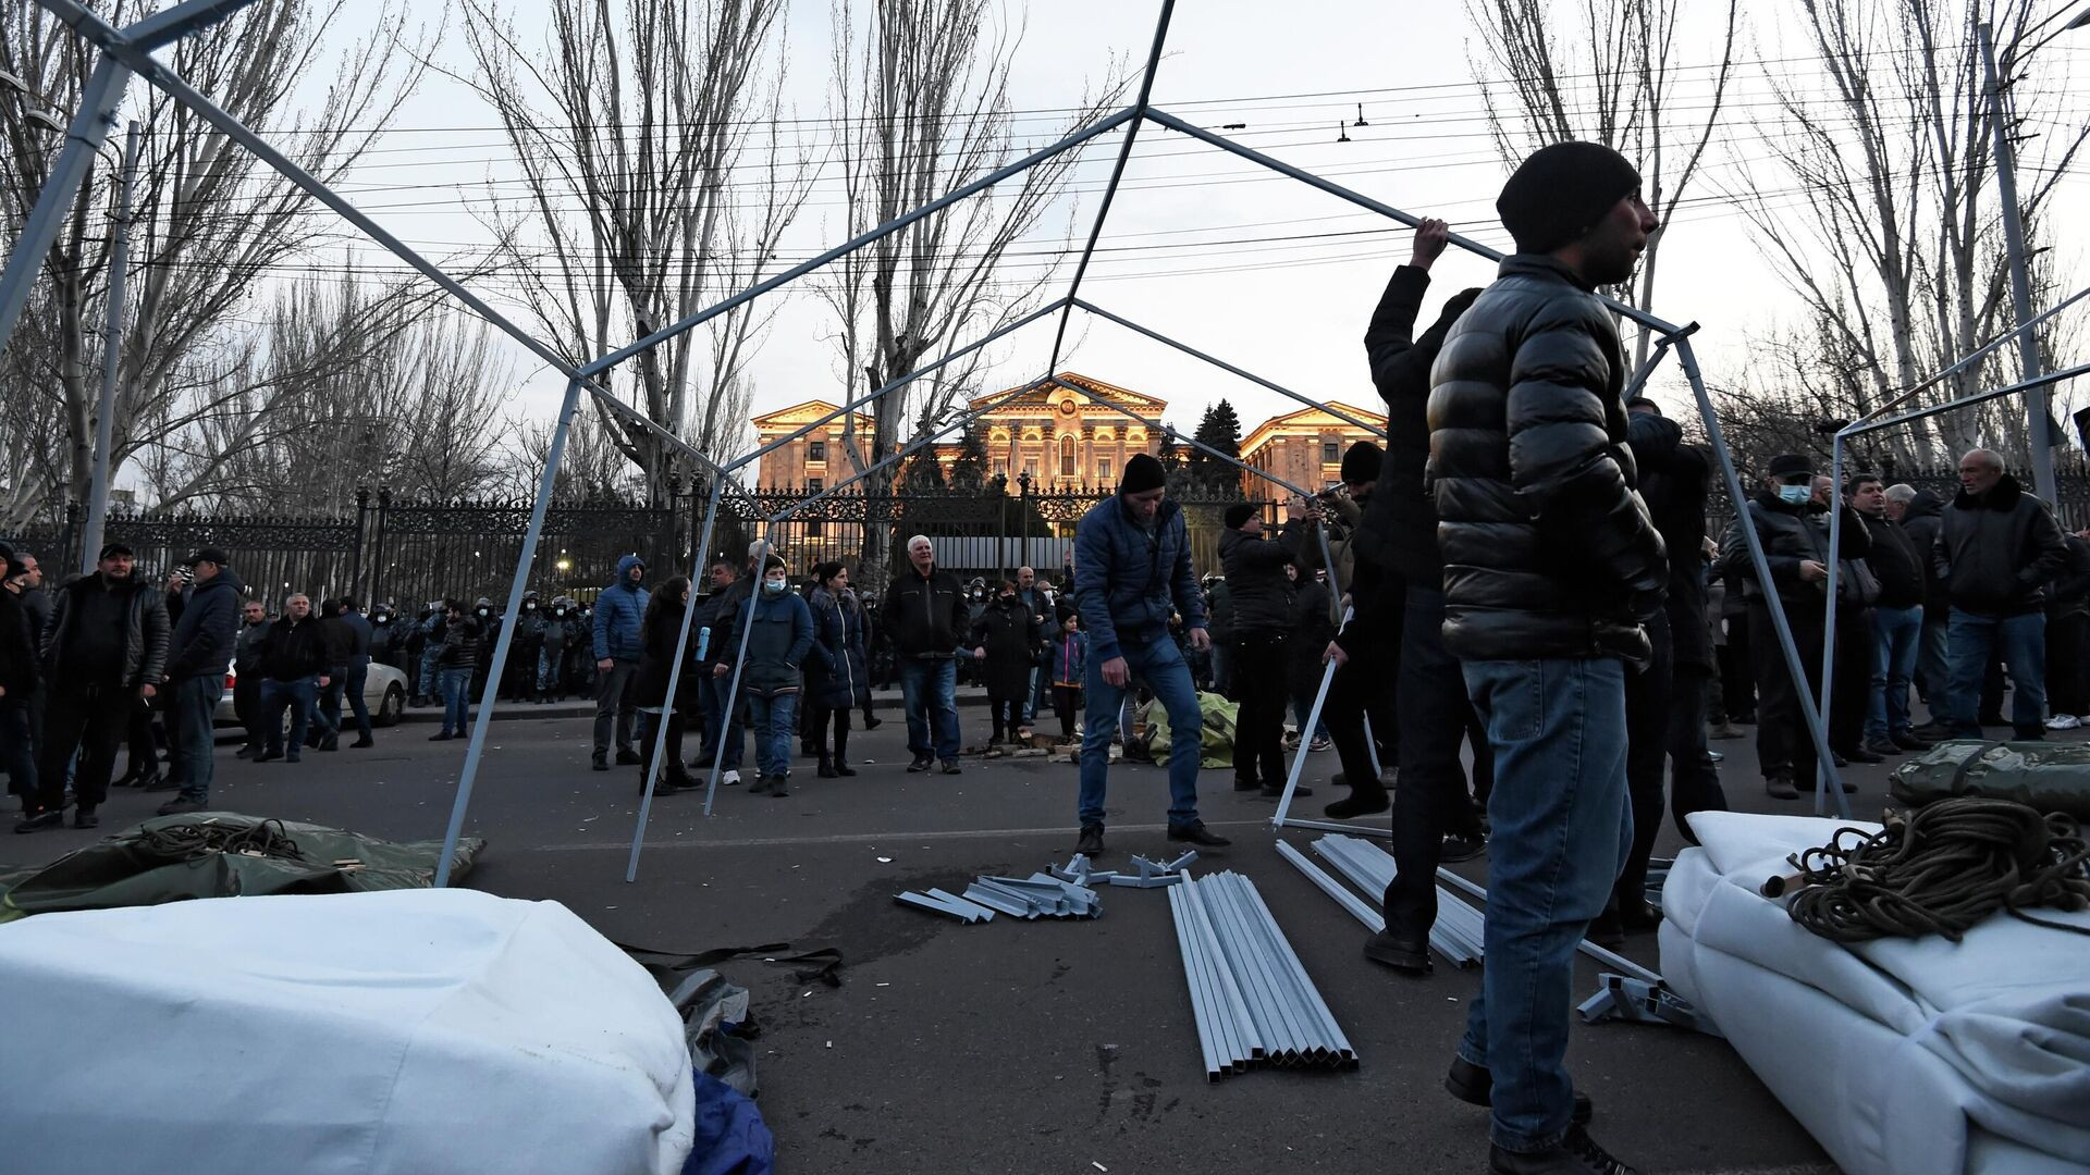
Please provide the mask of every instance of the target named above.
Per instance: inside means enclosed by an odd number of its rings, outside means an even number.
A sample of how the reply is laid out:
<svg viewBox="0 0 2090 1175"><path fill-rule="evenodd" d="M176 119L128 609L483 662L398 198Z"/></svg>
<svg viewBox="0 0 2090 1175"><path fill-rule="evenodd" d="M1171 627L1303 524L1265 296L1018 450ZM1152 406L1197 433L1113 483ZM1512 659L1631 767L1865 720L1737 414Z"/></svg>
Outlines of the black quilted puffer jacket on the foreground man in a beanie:
<svg viewBox="0 0 2090 1175"><path fill-rule="evenodd" d="M1444 644L1647 661L1668 558L1634 491L1618 328L1572 270L1507 257L1430 372Z"/></svg>

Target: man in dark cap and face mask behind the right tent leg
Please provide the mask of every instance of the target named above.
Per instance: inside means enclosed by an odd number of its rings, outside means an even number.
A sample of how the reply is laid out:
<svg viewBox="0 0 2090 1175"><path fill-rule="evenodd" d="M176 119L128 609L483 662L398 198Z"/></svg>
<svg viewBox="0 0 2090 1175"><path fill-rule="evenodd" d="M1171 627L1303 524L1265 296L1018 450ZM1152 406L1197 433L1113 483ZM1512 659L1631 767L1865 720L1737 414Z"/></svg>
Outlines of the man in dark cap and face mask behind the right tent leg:
<svg viewBox="0 0 2090 1175"><path fill-rule="evenodd" d="M1741 527L1756 527L1770 565L1770 585L1758 581ZM1873 539L1864 521L1843 508L1843 544L1835 558L1864 558ZM1829 606L1829 508L1814 500L1814 462L1804 454L1770 458L1764 491L1735 514L1720 539L1720 571L1741 583L1749 606L1749 659L1756 665L1756 759L1764 771L1764 790L1774 799L1799 799L1795 784L1812 784L1816 769L1814 738L1808 734L1799 707L1799 690L1820 694L1822 623ZM1806 682L1793 682L1785 667L1785 650L1770 623L1766 592L1776 592L1785 604ZM1854 790L1843 784L1843 790Z"/></svg>

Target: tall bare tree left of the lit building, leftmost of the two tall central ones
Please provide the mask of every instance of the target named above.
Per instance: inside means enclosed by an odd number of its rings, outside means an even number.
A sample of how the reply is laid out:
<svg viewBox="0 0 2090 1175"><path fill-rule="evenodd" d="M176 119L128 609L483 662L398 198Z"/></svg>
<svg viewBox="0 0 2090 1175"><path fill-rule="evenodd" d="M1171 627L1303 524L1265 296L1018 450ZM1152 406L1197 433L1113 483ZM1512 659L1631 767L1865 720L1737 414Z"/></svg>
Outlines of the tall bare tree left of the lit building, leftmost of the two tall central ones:
<svg viewBox="0 0 2090 1175"><path fill-rule="evenodd" d="M500 115L527 188L491 215L495 255L568 360L688 318L773 261L809 186L775 138L782 13L784 0L554 0L537 52L493 0L466 0L477 71L464 82ZM761 180L736 182L761 142ZM746 364L769 314L736 309L640 353L619 378L650 420L732 456L746 443ZM667 445L604 420L658 500Z"/></svg>

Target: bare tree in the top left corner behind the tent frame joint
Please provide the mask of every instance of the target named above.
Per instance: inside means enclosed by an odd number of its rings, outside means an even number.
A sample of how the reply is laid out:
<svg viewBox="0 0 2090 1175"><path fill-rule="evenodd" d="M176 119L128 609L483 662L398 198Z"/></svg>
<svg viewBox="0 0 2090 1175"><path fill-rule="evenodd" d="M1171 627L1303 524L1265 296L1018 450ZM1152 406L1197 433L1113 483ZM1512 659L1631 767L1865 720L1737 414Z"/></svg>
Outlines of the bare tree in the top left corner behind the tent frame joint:
<svg viewBox="0 0 2090 1175"><path fill-rule="evenodd" d="M117 0L104 17L127 23L153 6ZM339 59L326 52L326 33L345 10L345 0L257 4L165 52L199 90L247 125L272 128L295 161L332 182L389 125L420 77L412 56L397 52L412 38L403 13L391 6ZM318 109L297 109L293 90L330 61L326 98ZM27 215L61 146L27 115L33 107L75 109L90 67L86 42L42 6L0 4L0 69L23 77L33 94L31 105L0 102L0 201L10 226ZM196 393L222 387L249 362L251 345L234 339L236 314L257 282L309 251L324 232L299 188L201 115L144 84L132 86L132 102L142 102L134 109L148 134L132 228L136 301L119 355L111 468L121 468L144 443L140 422L178 431L226 408ZM48 514L61 500L88 496L115 169L109 151L82 184L8 353L8 464L25 473L0 504L0 523Z"/></svg>

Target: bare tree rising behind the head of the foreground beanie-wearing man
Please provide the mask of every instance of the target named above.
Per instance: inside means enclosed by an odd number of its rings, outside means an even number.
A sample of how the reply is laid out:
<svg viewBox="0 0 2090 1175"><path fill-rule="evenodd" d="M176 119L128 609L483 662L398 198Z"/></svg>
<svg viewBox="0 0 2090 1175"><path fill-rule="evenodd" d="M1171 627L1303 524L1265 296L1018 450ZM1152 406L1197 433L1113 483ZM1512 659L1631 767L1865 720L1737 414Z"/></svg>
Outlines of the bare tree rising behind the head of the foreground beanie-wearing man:
<svg viewBox="0 0 2090 1175"><path fill-rule="evenodd" d="M1657 217L1641 255L1641 272L1624 301L1655 307L1662 238L1705 161L1720 125L1726 84L1735 69L1741 4L1726 0L1718 65L1708 92L1682 92L1705 67L1678 61L1680 0L1578 4L1555 15L1547 0L1467 0L1486 50L1473 63L1488 107L1488 132L1505 161L1519 161L1549 142L1601 142L1641 169L1647 207ZM1563 73L1568 63L1574 71ZM1649 332L1634 343L1634 364L1647 362Z"/></svg>

